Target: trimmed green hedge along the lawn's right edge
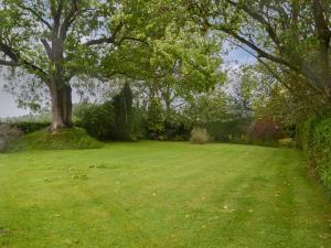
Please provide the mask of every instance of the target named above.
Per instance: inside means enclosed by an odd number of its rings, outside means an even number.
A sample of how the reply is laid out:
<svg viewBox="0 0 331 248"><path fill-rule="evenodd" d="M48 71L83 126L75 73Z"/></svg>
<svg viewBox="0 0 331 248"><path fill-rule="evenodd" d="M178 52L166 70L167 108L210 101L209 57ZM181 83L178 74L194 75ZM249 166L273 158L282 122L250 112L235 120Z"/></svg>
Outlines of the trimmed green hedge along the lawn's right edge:
<svg viewBox="0 0 331 248"><path fill-rule="evenodd" d="M331 190L331 118L309 119L299 125L297 144L312 172Z"/></svg>

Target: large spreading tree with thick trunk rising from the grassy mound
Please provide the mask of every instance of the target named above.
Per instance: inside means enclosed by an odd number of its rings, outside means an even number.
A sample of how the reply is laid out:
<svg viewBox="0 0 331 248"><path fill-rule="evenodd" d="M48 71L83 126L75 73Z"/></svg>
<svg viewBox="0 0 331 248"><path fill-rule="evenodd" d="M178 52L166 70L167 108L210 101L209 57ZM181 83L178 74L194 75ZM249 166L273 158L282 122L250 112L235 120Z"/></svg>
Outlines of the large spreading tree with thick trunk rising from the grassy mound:
<svg viewBox="0 0 331 248"><path fill-rule="evenodd" d="M124 43L146 44L137 19L149 19L146 7L138 0L0 0L0 65L43 82L51 94L51 128L70 127L71 79L94 76L99 58Z"/></svg>

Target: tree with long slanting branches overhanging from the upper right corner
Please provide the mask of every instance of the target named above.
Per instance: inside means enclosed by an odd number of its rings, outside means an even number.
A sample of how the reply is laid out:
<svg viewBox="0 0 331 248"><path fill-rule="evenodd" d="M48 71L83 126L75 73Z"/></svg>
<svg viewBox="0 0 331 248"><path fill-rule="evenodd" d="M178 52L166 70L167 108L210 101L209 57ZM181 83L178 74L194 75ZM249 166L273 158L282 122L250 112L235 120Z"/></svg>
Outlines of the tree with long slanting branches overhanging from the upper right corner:
<svg viewBox="0 0 331 248"><path fill-rule="evenodd" d="M274 74L331 101L330 0L184 0L204 30L221 31ZM295 83L295 82L293 82Z"/></svg>

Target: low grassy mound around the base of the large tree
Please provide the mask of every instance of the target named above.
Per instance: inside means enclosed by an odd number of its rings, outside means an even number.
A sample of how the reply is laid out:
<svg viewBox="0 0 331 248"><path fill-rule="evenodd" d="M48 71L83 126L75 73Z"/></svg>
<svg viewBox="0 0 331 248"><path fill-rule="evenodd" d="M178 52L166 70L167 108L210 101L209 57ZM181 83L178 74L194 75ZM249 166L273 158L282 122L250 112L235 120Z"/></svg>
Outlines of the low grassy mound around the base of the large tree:
<svg viewBox="0 0 331 248"><path fill-rule="evenodd" d="M96 149L103 143L90 136L83 128L62 129L51 132L46 129L23 136L12 142L9 150L67 150Z"/></svg>

